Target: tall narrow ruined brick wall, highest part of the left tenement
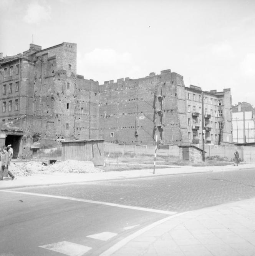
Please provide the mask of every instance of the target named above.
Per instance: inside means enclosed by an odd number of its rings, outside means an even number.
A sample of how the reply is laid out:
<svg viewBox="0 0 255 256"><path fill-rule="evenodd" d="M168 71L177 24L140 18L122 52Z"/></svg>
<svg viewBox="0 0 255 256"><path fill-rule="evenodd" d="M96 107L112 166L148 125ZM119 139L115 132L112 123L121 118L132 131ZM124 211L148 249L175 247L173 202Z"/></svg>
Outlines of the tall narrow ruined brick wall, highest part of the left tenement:
<svg viewBox="0 0 255 256"><path fill-rule="evenodd" d="M36 52L32 127L43 137L74 138L75 87L76 44Z"/></svg>

